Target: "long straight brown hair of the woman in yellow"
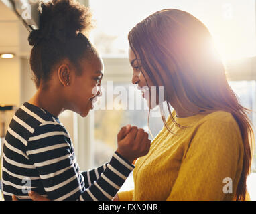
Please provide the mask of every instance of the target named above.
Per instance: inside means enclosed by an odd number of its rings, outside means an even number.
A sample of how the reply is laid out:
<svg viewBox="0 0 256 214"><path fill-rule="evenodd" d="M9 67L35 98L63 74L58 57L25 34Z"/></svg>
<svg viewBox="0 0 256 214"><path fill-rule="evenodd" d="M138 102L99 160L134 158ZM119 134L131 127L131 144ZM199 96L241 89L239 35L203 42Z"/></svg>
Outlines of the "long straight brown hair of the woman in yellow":
<svg viewBox="0 0 256 214"><path fill-rule="evenodd" d="M184 109L194 106L201 110L223 110L233 115L239 125L244 147L243 171L235 199L245 200L246 179L254 147L253 129L247 117L250 110L239 104L229 86L222 60L214 49L206 26L190 13L164 9L133 27L128 40L136 59L140 60L154 86L164 86L168 103L175 99ZM162 104L159 105L161 108ZM177 124L169 104L168 112ZM164 115L162 120L172 132Z"/></svg>

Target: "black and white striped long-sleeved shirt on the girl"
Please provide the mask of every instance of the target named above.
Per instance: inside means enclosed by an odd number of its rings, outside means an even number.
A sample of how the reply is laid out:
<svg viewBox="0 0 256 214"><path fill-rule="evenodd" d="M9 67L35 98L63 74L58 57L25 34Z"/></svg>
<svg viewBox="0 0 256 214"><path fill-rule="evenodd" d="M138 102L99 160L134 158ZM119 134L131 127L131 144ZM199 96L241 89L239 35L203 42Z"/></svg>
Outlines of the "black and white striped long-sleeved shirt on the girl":
<svg viewBox="0 0 256 214"><path fill-rule="evenodd" d="M13 116L3 144L5 200L30 200L31 189L52 200L111 200L134 166L115 152L97 169L80 171L62 123L25 102Z"/></svg>

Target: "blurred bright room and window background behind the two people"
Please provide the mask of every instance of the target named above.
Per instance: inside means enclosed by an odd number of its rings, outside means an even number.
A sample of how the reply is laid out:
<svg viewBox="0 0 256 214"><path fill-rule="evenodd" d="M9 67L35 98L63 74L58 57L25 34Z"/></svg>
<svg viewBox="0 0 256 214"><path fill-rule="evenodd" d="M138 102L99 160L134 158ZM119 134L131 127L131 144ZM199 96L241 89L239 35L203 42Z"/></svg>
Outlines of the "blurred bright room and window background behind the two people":
<svg viewBox="0 0 256 214"><path fill-rule="evenodd" d="M9 2L0 0L0 54L12 54L1 55L0 58L0 106L15 108L1 108L1 136L4 136L15 109L36 92L28 64L31 50L27 42L29 31ZM20 2L22 5L23 1ZM225 64L229 84L241 104L253 110L249 117L256 125L256 0L80 0L80 3L91 7L93 12L96 28L90 34L90 40L105 64L103 88L107 88L108 81L113 81L113 88L123 86L127 91L134 88L127 54L127 35L131 28L160 9L182 9L200 19L212 33ZM23 12L25 8L20 6L19 13ZM106 99L106 103L113 102L119 95L118 89L116 92L112 94L111 90L106 91L102 99ZM133 90L133 93L141 98L139 91ZM113 96L113 99L108 99L108 96ZM133 96L127 96L127 106L133 99ZM148 110L127 110L127 106L92 110L86 118L70 111L60 115L60 121L70 132L80 169L92 169L110 160L117 148L117 133L121 126L132 124L148 131ZM160 117L150 118L149 128L153 137L162 126ZM248 179L252 200L256 200L255 173L254 156L252 173ZM122 190L132 187L131 174Z"/></svg>

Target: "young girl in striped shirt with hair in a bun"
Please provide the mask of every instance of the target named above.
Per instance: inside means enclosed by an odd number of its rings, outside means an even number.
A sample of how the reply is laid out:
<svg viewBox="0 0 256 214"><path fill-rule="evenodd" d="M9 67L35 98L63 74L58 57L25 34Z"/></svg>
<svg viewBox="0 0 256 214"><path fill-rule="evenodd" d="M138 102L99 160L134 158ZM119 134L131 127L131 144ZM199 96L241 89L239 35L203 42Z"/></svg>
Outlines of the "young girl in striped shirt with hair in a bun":
<svg viewBox="0 0 256 214"><path fill-rule="evenodd" d="M3 193L29 199L32 189L52 200L111 200L147 154L148 134L123 127L110 162L81 172L70 136L58 115L84 117L101 95L103 63L82 31L90 27L86 7L71 0L42 5L40 29L29 35L36 94L13 116L3 145Z"/></svg>

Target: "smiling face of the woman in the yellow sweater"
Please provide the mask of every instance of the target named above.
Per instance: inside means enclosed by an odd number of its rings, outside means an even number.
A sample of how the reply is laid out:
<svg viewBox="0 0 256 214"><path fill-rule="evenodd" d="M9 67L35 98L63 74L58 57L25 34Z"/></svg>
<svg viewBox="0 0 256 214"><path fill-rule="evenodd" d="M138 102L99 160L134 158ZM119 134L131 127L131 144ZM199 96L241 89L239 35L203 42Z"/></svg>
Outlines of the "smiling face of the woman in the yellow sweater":
<svg viewBox="0 0 256 214"><path fill-rule="evenodd" d="M133 84L137 84L138 89L141 90L141 94L143 98L147 100L147 106L151 109L155 108L155 106L159 104L159 96L157 94L157 90L153 89L152 87L154 86L153 82L150 80L144 68L141 66L139 56L138 56L138 59L136 60L135 54L131 49L131 47L129 47L129 61L130 61L131 67L133 68L133 78L131 82ZM143 76L142 72L145 75L145 77ZM145 78L147 79L147 82ZM149 90L151 90L151 99L149 99L150 97ZM150 101L151 101L151 105L149 105Z"/></svg>

